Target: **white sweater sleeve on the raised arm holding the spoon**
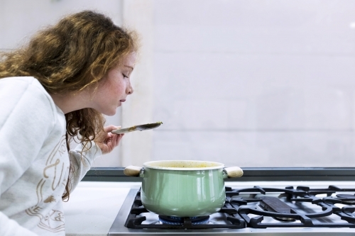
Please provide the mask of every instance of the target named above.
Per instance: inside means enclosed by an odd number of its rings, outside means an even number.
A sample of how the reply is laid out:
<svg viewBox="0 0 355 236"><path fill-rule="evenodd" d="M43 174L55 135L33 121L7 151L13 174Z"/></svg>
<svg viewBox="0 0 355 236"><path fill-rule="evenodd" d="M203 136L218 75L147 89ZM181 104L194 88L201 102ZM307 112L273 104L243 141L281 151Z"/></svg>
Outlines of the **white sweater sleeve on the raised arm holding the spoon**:
<svg viewBox="0 0 355 236"><path fill-rule="evenodd" d="M96 157L102 155L101 149L96 145L95 142L91 142L92 147L86 151L82 152L82 145L77 145L74 150L70 150L70 163L74 167L74 174L71 179L73 191L80 180L84 178L85 174L89 171L92 162Z"/></svg>

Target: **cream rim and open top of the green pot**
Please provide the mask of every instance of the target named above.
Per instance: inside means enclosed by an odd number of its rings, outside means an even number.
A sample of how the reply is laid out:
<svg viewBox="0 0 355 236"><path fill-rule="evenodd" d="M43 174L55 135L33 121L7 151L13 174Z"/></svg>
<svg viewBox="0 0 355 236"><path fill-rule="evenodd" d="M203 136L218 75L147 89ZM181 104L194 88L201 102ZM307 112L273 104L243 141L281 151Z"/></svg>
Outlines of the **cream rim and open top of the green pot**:
<svg viewBox="0 0 355 236"><path fill-rule="evenodd" d="M192 171L192 170L223 169L224 164L220 162L196 161L196 160L161 160L161 161L145 162L143 163L143 167L149 169Z"/></svg>

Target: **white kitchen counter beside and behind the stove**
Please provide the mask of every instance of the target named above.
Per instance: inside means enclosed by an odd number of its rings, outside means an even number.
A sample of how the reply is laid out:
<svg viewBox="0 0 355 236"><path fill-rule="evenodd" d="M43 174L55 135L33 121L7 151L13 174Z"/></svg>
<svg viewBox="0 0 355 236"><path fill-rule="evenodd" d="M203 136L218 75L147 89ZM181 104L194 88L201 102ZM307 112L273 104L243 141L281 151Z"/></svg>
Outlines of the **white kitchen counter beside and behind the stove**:
<svg viewBox="0 0 355 236"><path fill-rule="evenodd" d="M355 186L354 181L258 181L227 182L226 186ZM82 181L64 203L65 232L67 236L107 236L131 188L138 189L141 182Z"/></svg>

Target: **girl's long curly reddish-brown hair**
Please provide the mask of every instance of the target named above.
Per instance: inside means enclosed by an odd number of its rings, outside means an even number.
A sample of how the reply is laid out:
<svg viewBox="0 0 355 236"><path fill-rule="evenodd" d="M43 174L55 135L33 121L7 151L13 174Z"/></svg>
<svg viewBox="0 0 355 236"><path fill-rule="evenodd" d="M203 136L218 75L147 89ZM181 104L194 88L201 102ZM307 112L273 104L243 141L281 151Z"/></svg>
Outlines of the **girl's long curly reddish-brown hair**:
<svg viewBox="0 0 355 236"><path fill-rule="evenodd" d="M137 50L134 31L114 25L102 13L82 11L38 31L23 47L1 52L0 79L32 76L49 94L75 93L87 87L95 91L109 69ZM67 147L77 137L83 150L89 150L95 134L104 130L104 116L92 108L67 113L65 119ZM70 164L63 201L69 198L73 171Z"/></svg>

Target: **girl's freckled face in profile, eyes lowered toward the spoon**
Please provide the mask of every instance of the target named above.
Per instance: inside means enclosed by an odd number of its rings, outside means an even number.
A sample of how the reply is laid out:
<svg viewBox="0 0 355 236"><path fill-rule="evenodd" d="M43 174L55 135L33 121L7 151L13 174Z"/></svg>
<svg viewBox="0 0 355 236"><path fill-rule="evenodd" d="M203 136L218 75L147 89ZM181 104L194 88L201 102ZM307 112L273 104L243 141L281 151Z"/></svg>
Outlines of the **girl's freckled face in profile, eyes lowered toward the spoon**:
<svg viewBox="0 0 355 236"><path fill-rule="evenodd" d="M107 116L114 116L126 97L133 93L130 76L136 63L136 53L131 52L116 67L107 72L92 99L92 108Z"/></svg>

